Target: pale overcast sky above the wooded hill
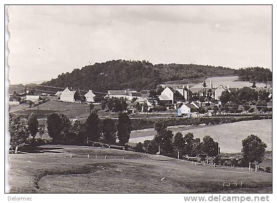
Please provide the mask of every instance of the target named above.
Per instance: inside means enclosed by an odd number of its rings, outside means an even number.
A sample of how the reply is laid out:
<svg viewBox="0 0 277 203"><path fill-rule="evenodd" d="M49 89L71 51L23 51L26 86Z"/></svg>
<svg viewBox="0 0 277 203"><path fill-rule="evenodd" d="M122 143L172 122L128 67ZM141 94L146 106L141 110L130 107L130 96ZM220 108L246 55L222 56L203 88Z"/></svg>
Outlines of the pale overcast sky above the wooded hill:
<svg viewBox="0 0 277 203"><path fill-rule="evenodd" d="M13 5L8 16L11 84L113 59L272 70L271 5Z"/></svg>

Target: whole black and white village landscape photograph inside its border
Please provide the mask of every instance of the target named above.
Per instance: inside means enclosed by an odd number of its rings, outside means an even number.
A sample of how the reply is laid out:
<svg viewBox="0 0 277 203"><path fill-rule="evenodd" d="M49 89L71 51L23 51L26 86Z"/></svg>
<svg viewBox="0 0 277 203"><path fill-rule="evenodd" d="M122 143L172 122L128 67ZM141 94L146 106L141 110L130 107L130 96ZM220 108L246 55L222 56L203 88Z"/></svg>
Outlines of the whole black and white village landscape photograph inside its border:
<svg viewBox="0 0 277 203"><path fill-rule="evenodd" d="M273 193L273 5L5 8L6 193Z"/></svg>

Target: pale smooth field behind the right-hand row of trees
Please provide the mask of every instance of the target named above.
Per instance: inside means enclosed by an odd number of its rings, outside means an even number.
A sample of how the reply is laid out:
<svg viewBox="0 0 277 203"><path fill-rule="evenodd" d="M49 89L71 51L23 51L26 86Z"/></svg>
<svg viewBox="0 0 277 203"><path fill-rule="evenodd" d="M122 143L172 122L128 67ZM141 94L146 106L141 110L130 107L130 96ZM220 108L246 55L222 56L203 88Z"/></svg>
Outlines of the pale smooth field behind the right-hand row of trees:
<svg viewBox="0 0 277 203"><path fill-rule="evenodd" d="M242 140L250 134L258 135L267 143L268 151L272 150L272 120L249 120L235 123L225 123L212 126L180 127L170 128L173 133L178 131L182 134L192 132L194 137L202 139L205 135L210 135L218 141L221 152L235 153L240 152ZM129 142L143 142L146 139L152 139L156 131L153 129L136 130L131 133Z"/></svg>

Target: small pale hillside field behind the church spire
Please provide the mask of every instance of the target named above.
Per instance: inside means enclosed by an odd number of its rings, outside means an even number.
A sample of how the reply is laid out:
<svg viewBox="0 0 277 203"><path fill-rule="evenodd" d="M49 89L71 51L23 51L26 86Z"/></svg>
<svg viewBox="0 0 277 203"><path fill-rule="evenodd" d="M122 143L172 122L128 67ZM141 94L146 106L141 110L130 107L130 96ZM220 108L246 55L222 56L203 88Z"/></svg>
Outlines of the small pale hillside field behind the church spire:
<svg viewBox="0 0 277 203"><path fill-rule="evenodd" d="M251 87L252 83L250 82L246 82L246 81L235 81L238 80L238 76L227 76L227 77L212 77L212 78L208 78L206 79L206 84L207 86L209 86L210 84L210 80L212 79L212 84L214 88L217 88L220 85L225 85L228 88L243 88L243 87ZM191 90L193 90L193 88L203 88L203 82L193 86L191 88ZM257 83L256 84L257 87L265 87L267 86L265 83Z"/></svg>

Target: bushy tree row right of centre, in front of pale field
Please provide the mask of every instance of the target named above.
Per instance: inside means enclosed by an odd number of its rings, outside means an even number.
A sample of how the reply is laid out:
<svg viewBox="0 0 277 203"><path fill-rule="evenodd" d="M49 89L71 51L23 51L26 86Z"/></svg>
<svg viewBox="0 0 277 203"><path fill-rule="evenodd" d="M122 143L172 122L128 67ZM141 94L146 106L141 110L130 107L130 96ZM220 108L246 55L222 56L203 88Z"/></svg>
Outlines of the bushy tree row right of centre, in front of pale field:
<svg viewBox="0 0 277 203"><path fill-rule="evenodd" d="M171 130L166 128L162 120L155 122L154 129L157 134L152 140L139 142L135 150L149 154L160 154L169 157L182 156L216 156L219 153L218 142L215 142L210 136L204 136L203 141L194 138L192 133L182 135L177 132L173 135Z"/></svg>

